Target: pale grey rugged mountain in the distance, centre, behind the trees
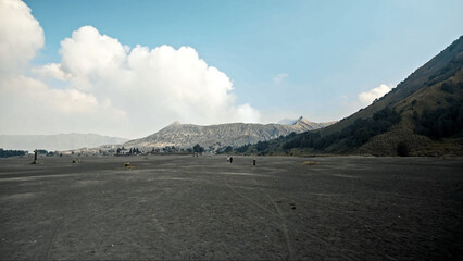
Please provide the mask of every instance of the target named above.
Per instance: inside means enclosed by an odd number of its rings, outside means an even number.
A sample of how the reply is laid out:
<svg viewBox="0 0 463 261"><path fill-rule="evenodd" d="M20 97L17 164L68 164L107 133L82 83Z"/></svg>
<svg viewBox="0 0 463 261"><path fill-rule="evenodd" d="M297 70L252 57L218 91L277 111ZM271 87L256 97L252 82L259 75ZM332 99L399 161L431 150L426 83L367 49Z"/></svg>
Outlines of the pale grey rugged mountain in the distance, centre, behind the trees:
<svg viewBox="0 0 463 261"><path fill-rule="evenodd" d="M227 146L238 147L274 139L290 133L317 129L327 124L309 122L302 116L292 125L230 123L199 126L174 122L153 135L127 141L124 147L163 148L175 146L191 148L197 144L204 148L213 147L215 149Z"/></svg>

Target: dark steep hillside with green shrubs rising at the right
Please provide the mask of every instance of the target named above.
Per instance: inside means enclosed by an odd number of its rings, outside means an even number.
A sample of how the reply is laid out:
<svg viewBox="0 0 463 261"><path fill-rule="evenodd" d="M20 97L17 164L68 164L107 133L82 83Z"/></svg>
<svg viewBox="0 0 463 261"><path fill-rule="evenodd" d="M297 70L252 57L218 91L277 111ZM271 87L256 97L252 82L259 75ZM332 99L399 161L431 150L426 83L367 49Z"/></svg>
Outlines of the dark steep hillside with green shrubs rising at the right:
<svg viewBox="0 0 463 261"><path fill-rule="evenodd" d="M367 108L260 153L463 154L462 67L463 36Z"/></svg>

